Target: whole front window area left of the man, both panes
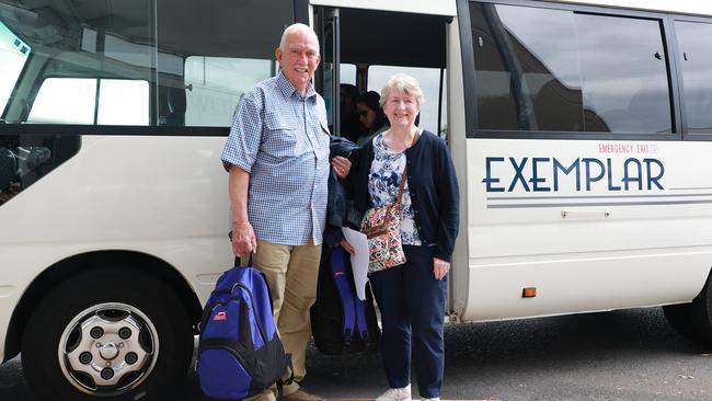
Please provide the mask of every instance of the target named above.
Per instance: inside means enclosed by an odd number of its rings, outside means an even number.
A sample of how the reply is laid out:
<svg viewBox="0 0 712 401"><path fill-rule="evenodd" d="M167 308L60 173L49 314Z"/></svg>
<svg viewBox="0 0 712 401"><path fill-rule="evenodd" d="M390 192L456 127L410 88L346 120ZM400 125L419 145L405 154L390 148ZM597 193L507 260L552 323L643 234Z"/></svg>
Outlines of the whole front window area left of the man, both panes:
<svg viewBox="0 0 712 401"><path fill-rule="evenodd" d="M16 3L0 0L10 124L229 126L294 18L284 0Z"/></svg>

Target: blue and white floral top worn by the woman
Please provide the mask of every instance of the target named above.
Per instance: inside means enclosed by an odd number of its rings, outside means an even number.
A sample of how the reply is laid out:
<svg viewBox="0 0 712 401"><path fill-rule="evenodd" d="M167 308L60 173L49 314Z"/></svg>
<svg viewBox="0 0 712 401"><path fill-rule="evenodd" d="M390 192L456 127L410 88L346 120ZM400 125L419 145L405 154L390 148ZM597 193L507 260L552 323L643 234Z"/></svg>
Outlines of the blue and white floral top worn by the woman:
<svg viewBox="0 0 712 401"><path fill-rule="evenodd" d="M416 135L421 135L418 130ZM374 207L386 206L395 202L398 186L401 184L405 169L405 153L389 149L383 142L383 135L374 137L374 162L368 174L368 193ZM401 241L405 245L420 245L421 237L415 228L415 213L407 190L407 181L401 198Z"/></svg>

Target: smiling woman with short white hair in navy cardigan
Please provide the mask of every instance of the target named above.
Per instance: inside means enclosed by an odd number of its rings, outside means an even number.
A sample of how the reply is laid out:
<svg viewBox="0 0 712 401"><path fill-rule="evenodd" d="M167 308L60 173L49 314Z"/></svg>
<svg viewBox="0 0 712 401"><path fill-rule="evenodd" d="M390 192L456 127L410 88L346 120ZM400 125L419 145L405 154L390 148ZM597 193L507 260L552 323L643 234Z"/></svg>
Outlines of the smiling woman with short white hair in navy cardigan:
<svg viewBox="0 0 712 401"><path fill-rule="evenodd" d="M423 400L439 400L447 274L458 233L459 192L455 167L443 139L415 126L423 92L406 75L390 78L381 91L390 128L352 154L348 176L356 209L393 203L403 171L401 239L406 262L370 274L381 311L381 354L390 389L378 401L411 400L411 353ZM353 252L353 248L342 242Z"/></svg>

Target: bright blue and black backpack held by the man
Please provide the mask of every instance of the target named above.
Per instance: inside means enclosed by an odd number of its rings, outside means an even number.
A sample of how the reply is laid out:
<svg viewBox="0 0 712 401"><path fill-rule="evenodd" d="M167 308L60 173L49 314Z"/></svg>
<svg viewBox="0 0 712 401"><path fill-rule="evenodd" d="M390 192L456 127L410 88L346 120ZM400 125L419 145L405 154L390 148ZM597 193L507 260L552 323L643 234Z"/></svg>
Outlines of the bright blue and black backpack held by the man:
<svg viewBox="0 0 712 401"><path fill-rule="evenodd" d="M291 368L275 328L263 274L236 266L225 272L203 310L197 375L207 397L243 399L277 383Z"/></svg>

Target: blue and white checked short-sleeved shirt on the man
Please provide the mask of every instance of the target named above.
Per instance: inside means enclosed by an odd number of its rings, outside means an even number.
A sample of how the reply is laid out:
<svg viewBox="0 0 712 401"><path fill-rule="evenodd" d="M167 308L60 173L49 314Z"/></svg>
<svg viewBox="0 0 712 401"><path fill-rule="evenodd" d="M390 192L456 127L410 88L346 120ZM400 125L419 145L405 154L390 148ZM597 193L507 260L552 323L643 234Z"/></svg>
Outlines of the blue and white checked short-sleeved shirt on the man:
<svg viewBox="0 0 712 401"><path fill-rule="evenodd" d="M248 218L260 240L322 242L330 139L324 100L311 84L302 96L279 73L244 93L222 163L250 173Z"/></svg>

